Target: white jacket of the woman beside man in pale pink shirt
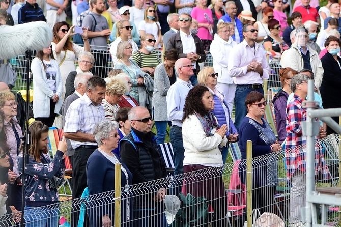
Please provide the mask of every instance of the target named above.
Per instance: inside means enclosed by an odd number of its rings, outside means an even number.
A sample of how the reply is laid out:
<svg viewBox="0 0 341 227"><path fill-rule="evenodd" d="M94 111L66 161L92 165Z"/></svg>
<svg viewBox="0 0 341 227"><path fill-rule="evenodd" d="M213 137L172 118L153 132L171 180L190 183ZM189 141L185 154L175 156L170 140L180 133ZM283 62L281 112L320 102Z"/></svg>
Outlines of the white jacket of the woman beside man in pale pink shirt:
<svg viewBox="0 0 341 227"><path fill-rule="evenodd" d="M229 76L228 59L229 53L236 45L237 43L231 39L226 42L220 38L218 34L214 35L214 39L212 40L210 47L210 53L213 58L214 71L219 74L217 78L217 82L219 83L234 84L233 78Z"/></svg>

